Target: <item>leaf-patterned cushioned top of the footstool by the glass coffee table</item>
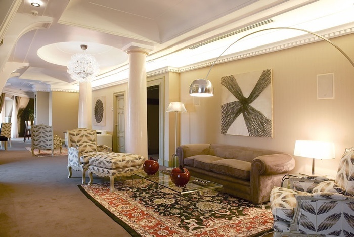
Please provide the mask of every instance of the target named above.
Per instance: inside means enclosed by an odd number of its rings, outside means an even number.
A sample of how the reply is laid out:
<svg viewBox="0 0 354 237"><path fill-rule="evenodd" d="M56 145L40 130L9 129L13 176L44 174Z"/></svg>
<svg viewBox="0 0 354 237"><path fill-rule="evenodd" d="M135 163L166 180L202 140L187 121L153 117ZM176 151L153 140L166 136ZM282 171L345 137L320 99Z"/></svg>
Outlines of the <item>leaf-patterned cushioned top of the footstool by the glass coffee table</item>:
<svg viewBox="0 0 354 237"><path fill-rule="evenodd" d="M144 164L145 157L131 153L91 152L83 156L89 156L89 164L107 169L118 169L140 166ZM80 157L83 158L83 156Z"/></svg>

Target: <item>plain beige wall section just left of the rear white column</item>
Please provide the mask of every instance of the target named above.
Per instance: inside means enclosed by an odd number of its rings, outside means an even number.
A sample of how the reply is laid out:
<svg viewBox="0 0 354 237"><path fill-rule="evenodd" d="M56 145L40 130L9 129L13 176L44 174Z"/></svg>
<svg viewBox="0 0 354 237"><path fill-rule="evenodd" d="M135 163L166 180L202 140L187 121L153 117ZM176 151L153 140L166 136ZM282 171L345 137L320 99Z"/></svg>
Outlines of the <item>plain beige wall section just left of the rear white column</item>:
<svg viewBox="0 0 354 237"><path fill-rule="evenodd" d="M51 92L51 110L54 135L64 139L64 132L77 128L78 124L78 93Z"/></svg>

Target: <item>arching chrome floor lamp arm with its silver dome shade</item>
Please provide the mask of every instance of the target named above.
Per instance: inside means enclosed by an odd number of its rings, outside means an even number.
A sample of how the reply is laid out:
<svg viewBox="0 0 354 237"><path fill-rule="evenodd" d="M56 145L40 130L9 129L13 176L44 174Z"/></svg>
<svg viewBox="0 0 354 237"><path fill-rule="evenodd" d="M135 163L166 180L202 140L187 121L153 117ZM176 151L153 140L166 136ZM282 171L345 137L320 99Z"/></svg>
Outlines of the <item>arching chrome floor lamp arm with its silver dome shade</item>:
<svg viewBox="0 0 354 237"><path fill-rule="evenodd" d="M246 34L244 36L242 36L241 38L239 38L238 40L236 40L235 42L233 42L232 44L230 44L228 46L228 48L226 48L223 53L221 53L216 59L215 61L213 62L213 64L211 65L208 73L206 74L206 77L205 79L197 79L197 80L194 80L192 82L192 84L190 85L189 87L189 94L191 96L197 96L197 97L205 97L205 96L213 96L213 93L214 93L214 89L212 88L212 85L211 85L211 82L209 80L207 80L208 76L209 76L209 73L211 71L211 69L213 68L213 66L216 64L217 60L225 53L225 51L227 51L232 45L234 45L235 43L237 43L238 41L240 41L241 39L244 39L246 38L247 36L250 36L252 34L255 34L255 33L259 33L259 32L262 32L262 31L266 31L266 30L279 30L279 29L287 29L287 30L300 30L300 31L303 31L303 32L306 32L306 33L309 33L309 34L313 34L327 42L329 42L330 44L332 44L337 50L339 50L340 53L342 53L345 58L347 58L347 60L349 60L349 62L351 63L351 65L354 67L354 62L349 58L349 56L341 49L339 48L338 45L336 45L335 43L333 43L331 40L315 33L315 32L312 32L312 31L308 31L308 30L304 30L304 29L298 29L298 28L291 28L291 27L274 27L274 28L267 28L267 29L262 29L262 30L257 30L257 31L254 31L252 33L249 33L249 34ZM208 88L207 89L203 89L204 86L207 85ZM212 91L212 94L205 94L207 93L206 91L207 90L211 90Z"/></svg>

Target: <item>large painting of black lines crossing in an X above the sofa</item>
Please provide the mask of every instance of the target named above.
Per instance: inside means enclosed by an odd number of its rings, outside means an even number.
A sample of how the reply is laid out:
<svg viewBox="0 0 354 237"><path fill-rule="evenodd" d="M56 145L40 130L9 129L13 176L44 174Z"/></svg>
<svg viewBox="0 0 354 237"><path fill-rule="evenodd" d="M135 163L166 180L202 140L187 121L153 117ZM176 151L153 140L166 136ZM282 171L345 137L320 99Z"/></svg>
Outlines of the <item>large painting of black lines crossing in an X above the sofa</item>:
<svg viewBox="0 0 354 237"><path fill-rule="evenodd" d="M221 132L273 137L272 70L224 76Z"/></svg>

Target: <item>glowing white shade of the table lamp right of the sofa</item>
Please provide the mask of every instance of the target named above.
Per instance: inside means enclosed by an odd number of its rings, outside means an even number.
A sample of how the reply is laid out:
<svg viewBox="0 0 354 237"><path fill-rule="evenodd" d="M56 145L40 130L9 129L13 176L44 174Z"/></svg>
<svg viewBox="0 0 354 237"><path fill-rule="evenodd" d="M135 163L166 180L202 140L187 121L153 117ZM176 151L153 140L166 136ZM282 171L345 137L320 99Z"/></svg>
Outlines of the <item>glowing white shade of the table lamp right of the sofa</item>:
<svg viewBox="0 0 354 237"><path fill-rule="evenodd" d="M314 140L295 141L294 156L313 159L334 159L334 143Z"/></svg>

